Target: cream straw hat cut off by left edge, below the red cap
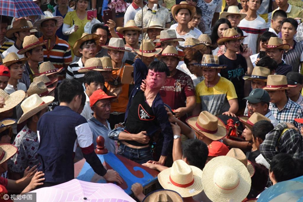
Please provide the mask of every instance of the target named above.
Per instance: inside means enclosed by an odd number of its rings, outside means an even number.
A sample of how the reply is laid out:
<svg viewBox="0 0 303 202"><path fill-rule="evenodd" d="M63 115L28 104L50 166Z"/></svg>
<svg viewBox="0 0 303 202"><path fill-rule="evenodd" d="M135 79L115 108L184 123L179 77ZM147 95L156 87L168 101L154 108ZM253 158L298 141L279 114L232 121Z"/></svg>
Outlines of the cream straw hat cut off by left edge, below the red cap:
<svg viewBox="0 0 303 202"><path fill-rule="evenodd" d="M25 92L18 90L12 94L8 94L4 90L0 89L0 98L3 98L5 103L4 107L0 108L1 113L17 106L25 98Z"/></svg>

